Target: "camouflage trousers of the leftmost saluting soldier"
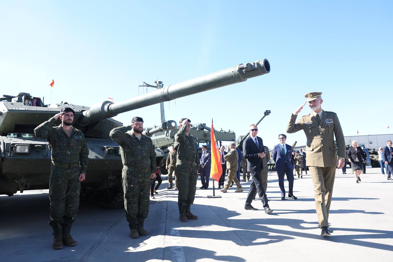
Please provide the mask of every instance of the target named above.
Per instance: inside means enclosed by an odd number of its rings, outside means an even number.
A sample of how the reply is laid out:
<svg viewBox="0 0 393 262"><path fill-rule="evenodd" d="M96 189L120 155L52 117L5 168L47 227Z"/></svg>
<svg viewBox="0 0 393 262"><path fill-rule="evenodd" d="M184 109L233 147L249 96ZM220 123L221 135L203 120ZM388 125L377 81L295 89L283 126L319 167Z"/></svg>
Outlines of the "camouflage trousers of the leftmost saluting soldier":
<svg viewBox="0 0 393 262"><path fill-rule="evenodd" d="M55 236L69 234L78 213L80 168L66 169L51 165L49 177L50 221Z"/></svg>

